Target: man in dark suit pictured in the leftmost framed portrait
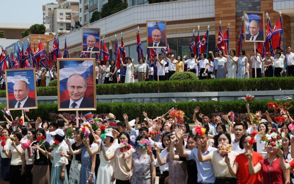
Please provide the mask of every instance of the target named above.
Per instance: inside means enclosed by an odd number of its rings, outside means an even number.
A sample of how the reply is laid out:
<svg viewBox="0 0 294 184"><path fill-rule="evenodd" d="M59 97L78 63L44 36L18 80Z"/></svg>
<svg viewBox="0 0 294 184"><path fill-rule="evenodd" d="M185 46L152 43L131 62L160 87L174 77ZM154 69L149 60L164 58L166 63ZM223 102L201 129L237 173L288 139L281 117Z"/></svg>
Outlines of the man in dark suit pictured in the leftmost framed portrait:
<svg viewBox="0 0 294 184"><path fill-rule="evenodd" d="M9 108L36 107L36 101L28 96L28 83L20 80L13 85L14 99L9 100Z"/></svg>

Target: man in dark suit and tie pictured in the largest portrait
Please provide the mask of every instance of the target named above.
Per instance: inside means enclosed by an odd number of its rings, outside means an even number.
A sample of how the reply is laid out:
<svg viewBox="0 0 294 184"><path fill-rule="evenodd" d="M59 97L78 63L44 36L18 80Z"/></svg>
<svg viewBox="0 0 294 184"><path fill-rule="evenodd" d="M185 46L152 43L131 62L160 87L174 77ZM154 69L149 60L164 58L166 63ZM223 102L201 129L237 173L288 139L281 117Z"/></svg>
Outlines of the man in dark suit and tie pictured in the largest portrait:
<svg viewBox="0 0 294 184"><path fill-rule="evenodd" d="M67 79L66 88L70 96L69 100L60 103L60 108L95 108L94 101L84 97L87 90L87 82L81 74L72 74Z"/></svg>

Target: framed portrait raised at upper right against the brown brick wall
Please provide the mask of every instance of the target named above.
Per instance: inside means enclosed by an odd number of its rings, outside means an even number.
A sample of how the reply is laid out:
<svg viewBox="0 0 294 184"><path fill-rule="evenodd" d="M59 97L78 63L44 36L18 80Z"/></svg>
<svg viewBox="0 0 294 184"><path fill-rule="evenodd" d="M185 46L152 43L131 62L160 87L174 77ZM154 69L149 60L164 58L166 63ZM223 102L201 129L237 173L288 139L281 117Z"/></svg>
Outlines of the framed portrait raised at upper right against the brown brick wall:
<svg viewBox="0 0 294 184"><path fill-rule="evenodd" d="M264 12L244 11L244 32L247 42L264 42Z"/></svg>

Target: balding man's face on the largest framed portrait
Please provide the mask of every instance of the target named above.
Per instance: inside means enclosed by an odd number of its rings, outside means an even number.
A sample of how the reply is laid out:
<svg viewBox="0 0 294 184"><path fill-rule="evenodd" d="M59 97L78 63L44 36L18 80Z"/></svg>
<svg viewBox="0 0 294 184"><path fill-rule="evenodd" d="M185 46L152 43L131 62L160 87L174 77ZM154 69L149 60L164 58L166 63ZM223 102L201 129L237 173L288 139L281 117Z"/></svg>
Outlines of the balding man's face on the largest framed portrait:
<svg viewBox="0 0 294 184"><path fill-rule="evenodd" d="M80 100L84 96L87 89L87 87L85 86L84 78L79 75L71 76L66 83L66 87L70 98L74 102Z"/></svg>

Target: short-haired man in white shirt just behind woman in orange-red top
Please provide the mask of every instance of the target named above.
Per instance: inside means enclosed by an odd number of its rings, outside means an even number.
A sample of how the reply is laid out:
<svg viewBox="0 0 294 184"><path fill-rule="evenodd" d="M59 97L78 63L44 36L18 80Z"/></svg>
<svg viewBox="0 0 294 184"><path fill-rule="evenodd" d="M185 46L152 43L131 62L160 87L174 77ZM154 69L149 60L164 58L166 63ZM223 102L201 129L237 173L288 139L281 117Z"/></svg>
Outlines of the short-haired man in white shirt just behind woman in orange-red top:
<svg viewBox="0 0 294 184"><path fill-rule="evenodd" d="M242 122L237 122L234 124L234 135L235 135L235 140L232 140L233 144L233 150L236 151L237 153L241 154L245 152L245 149L241 149L239 146L240 139L243 136L245 132L245 127ZM230 133L230 132L229 132Z"/></svg>

